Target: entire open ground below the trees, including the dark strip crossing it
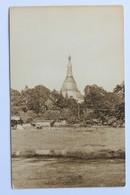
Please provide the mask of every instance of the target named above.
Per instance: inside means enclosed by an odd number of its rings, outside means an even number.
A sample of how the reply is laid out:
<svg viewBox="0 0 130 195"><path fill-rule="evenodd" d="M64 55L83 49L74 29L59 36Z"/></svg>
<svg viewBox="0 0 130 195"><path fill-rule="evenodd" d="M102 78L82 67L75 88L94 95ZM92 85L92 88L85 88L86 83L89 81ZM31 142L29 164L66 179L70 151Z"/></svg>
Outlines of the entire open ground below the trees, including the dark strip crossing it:
<svg viewBox="0 0 130 195"><path fill-rule="evenodd" d="M124 128L32 128L11 134L14 188L125 185Z"/></svg>

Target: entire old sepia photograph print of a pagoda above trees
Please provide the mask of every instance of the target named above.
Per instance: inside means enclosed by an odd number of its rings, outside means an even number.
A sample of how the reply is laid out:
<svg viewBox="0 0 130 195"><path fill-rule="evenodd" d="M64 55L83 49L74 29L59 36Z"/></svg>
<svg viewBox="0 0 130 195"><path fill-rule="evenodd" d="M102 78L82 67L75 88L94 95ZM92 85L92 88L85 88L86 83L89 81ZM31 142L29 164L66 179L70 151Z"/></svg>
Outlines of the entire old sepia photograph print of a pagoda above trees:
<svg viewBox="0 0 130 195"><path fill-rule="evenodd" d="M125 186L123 6L10 8L12 188Z"/></svg>

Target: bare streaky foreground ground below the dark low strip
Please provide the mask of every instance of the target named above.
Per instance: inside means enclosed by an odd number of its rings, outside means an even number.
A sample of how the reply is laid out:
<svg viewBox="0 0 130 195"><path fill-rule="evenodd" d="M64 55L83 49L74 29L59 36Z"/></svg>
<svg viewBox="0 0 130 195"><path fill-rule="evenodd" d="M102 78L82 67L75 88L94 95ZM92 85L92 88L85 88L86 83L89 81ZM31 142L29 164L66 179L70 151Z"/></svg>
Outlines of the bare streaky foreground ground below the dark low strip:
<svg viewBox="0 0 130 195"><path fill-rule="evenodd" d="M125 185L124 160L31 158L12 160L14 188L105 187Z"/></svg>

